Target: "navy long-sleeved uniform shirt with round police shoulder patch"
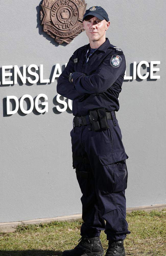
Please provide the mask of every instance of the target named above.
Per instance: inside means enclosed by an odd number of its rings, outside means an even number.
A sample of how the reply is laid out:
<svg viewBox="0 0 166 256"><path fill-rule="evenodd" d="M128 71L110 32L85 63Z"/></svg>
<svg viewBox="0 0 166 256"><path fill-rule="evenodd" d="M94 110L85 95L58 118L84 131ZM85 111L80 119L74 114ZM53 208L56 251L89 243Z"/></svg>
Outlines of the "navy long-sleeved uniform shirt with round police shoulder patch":
<svg viewBox="0 0 166 256"><path fill-rule="evenodd" d="M73 100L73 115L84 116L89 110L119 110L119 93L126 70L123 51L106 41L89 57L90 44L78 48L58 78L57 93ZM73 83L68 80L72 73Z"/></svg>

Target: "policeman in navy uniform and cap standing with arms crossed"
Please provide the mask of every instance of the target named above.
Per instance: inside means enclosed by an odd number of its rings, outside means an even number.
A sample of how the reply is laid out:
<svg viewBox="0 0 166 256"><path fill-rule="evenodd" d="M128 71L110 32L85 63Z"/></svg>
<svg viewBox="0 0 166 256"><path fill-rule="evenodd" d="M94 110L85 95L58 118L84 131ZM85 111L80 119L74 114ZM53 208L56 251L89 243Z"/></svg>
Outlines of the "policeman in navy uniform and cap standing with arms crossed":
<svg viewBox="0 0 166 256"><path fill-rule="evenodd" d="M128 156L115 111L126 62L105 37L110 22L101 6L86 10L82 21L89 44L74 52L57 84L57 93L73 100L70 136L84 221L79 243L63 256L103 255L101 230L109 241L105 255L125 256Z"/></svg>

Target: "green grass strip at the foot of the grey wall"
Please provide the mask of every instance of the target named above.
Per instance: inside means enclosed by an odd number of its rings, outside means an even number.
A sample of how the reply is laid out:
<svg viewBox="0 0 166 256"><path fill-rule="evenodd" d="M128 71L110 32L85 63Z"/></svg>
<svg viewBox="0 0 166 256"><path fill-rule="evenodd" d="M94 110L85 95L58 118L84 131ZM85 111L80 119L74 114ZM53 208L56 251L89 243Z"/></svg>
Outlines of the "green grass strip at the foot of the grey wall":
<svg viewBox="0 0 166 256"><path fill-rule="evenodd" d="M166 256L166 209L133 211L127 214L131 234L125 239L126 256ZM17 228L15 233L0 233L2 256L53 256L72 249L80 238L82 220L53 221ZM103 248L106 235L101 232Z"/></svg>

